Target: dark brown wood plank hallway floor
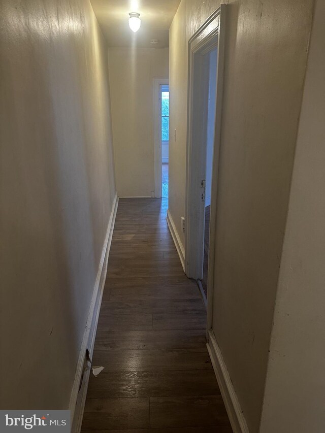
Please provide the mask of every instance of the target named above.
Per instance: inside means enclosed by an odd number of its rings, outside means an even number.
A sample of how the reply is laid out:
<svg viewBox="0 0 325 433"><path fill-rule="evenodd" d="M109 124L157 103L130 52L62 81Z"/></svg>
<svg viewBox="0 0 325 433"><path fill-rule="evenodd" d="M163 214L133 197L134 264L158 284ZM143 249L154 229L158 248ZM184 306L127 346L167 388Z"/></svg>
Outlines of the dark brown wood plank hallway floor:
<svg viewBox="0 0 325 433"><path fill-rule="evenodd" d="M231 433L167 199L120 199L82 424L95 433Z"/></svg>

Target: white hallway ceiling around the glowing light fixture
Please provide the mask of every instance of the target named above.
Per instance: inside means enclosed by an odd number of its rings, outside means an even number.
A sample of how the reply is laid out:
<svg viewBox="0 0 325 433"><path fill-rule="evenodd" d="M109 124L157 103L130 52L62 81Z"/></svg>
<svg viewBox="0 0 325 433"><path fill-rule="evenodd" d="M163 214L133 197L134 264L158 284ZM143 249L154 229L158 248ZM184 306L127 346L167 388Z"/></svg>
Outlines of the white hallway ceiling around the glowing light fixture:
<svg viewBox="0 0 325 433"><path fill-rule="evenodd" d="M169 46L169 27L180 0L90 0L109 47ZM128 13L139 12L141 27L134 33ZM151 44L157 39L157 44Z"/></svg>

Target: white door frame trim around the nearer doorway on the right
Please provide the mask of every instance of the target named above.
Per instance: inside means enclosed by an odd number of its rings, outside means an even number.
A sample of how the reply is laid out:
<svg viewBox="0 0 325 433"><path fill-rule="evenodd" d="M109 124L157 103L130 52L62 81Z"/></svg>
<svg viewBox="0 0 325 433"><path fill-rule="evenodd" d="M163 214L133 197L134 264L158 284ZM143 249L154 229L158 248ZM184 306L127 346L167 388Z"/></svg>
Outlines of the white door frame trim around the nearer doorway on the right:
<svg viewBox="0 0 325 433"><path fill-rule="evenodd" d="M208 296L207 296L207 329L212 328L212 311L213 311L213 290L214 288L214 261L215 261L215 232L216 232L216 218L217 218L217 192L218 192L218 174L219 174L219 153L221 145L221 117L222 117L222 101L223 101L223 75L224 75L224 45L225 45L225 22L226 22L225 5L220 7L207 19L207 21L198 29L198 31L189 40L189 55L188 55L188 107L187 107L187 165L186 165L186 229L185 229L185 273L187 277L199 279L201 277L203 264L203 231L201 237L197 237L201 245L199 260L195 257L198 256L199 249L193 240L191 234L196 230L200 224L203 230L204 221L200 221L197 216L193 216L192 202L194 198L198 198L200 190L197 188L193 191L191 188L191 164L192 164L192 149L191 149L191 122L192 122L192 81L193 81L193 56L194 53L208 49L211 50L211 45L214 44L215 36L217 35L217 76L216 76L216 115L215 115L215 134L213 146L213 164L212 164L212 187L211 187L211 208L210 208L210 228L209 228L209 262L208 262ZM196 101L198 98L196 99ZM198 159L198 158L197 158ZM198 163L194 158L193 167ZM201 164L202 165L202 164ZM202 166L200 165L200 170ZM204 166L205 170L205 166ZM197 186L197 185L196 185ZM200 213L199 213L200 214ZM202 210L201 210L202 214ZM204 210L203 210L204 215ZM202 216L201 216L202 218ZM191 252L192 251L192 252ZM202 252L202 262L201 262Z"/></svg>

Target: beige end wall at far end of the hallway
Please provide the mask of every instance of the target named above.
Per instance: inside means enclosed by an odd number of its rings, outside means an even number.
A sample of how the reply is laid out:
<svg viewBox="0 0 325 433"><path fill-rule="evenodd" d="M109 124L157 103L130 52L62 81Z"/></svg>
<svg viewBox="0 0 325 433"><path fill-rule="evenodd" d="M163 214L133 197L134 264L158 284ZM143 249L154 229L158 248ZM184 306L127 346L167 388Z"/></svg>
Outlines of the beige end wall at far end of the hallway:
<svg viewBox="0 0 325 433"><path fill-rule="evenodd" d="M109 72L119 196L154 191L153 78L168 78L168 48L110 48Z"/></svg>

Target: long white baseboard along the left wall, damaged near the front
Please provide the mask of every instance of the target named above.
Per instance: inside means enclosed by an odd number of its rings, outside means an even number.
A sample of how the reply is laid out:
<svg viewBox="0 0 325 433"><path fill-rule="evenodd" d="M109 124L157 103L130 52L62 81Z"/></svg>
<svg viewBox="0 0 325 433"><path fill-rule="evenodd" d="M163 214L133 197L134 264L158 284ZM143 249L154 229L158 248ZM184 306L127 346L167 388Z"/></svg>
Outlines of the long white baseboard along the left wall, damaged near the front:
<svg viewBox="0 0 325 433"><path fill-rule="evenodd" d="M71 411L72 419L72 433L79 433L81 430L83 412L86 402L89 375L90 375L90 362L86 359L86 350L89 351L90 359L92 359L93 347L95 343L95 336L100 314L100 307L102 303L103 291L105 286L105 279L107 273L108 255L112 242L113 229L115 224L116 212L118 207L117 194L114 197L113 208L107 226L106 237L103 245L101 261L99 265L98 274L96 277L93 294L91 298L86 329L84 332L81 349L79 353L76 375L73 383L73 388L70 397L69 409Z"/></svg>

